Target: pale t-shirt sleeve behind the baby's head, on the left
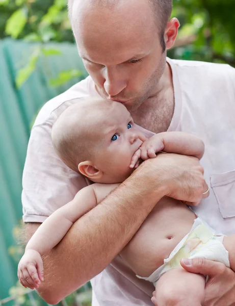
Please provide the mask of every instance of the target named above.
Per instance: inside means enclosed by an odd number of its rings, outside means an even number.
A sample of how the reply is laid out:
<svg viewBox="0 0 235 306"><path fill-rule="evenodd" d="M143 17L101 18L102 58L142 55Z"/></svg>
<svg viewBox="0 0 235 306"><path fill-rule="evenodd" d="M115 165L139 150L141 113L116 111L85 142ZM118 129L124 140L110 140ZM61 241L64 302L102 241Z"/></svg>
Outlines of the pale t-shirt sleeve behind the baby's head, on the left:
<svg viewBox="0 0 235 306"><path fill-rule="evenodd" d="M43 222L73 199L85 186L85 178L68 168L51 142L51 125L33 127L22 177L24 222Z"/></svg>

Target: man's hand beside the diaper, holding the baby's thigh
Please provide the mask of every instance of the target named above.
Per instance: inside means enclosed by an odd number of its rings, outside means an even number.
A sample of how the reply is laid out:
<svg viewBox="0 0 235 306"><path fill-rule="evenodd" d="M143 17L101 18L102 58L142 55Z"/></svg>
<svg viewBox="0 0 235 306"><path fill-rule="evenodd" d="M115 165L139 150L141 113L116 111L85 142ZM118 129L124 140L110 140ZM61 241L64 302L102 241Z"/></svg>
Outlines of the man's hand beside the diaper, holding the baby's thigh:
<svg viewBox="0 0 235 306"><path fill-rule="evenodd" d="M235 305L235 273L231 269L222 263L202 258L181 260L180 263L189 272L209 276L203 306Z"/></svg>

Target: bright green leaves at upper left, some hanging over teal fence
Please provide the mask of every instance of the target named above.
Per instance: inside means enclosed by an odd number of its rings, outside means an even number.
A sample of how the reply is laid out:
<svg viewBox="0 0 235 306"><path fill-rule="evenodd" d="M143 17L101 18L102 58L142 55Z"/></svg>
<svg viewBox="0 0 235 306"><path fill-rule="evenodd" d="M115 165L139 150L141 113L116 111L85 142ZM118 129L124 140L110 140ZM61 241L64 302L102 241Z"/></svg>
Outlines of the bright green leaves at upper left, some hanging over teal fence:
<svg viewBox="0 0 235 306"><path fill-rule="evenodd" d="M49 41L73 42L70 23L67 16L67 0L0 0L1 37L11 36L30 42L40 42L32 53L28 63L18 70L15 84L19 88L28 80L41 57L60 55L58 49L47 49ZM81 71L62 72L51 85L60 86L71 78L81 75Z"/></svg>

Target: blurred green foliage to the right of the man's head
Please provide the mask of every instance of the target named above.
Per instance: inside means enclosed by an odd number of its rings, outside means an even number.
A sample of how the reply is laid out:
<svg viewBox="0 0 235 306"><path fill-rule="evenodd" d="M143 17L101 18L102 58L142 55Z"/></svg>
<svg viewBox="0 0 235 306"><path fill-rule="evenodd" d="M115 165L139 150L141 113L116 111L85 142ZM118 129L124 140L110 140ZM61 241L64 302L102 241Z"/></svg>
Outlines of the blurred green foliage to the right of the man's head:
<svg viewBox="0 0 235 306"><path fill-rule="evenodd" d="M234 0L177 0L173 3L172 16L177 16L181 23L178 41L181 40L181 45L171 50L170 55L235 66Z"/></svg>

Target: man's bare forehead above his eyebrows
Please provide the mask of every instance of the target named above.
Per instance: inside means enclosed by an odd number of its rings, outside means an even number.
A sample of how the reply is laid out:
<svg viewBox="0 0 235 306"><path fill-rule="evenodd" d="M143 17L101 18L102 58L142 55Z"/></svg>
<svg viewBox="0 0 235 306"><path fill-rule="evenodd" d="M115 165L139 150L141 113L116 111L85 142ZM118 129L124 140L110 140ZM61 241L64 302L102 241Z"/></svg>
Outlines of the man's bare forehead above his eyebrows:
<svg viewBox="0 0 235 306"><path fill-rule="evenodd" d="M83 7L81 10L84 12L77 13L78 17L72 20L72 25L82 58L100 64L108 60L111 64L114 61L119 64L150 52L149 45L156 33L154 20L151 21L151 9L146 0L135 0L135 5L131 4L133 1L129 0L123 8L85 10Z"/></svg>

